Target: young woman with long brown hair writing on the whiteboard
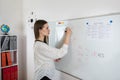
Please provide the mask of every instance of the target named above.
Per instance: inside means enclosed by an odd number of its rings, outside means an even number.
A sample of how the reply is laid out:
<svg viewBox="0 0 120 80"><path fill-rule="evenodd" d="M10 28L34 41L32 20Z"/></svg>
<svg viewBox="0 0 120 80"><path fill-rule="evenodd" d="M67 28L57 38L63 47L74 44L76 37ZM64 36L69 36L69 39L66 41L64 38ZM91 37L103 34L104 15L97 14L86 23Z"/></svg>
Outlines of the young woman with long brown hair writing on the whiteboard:
<svg viewBox="0 0 120 80"><path fill-rule="evenodd" d="M34 24L34 80L54 80L54 60L62 58L67 54L68 44L71 36L71 29L66 28L64 44L60 49L50 47L47 43L50 30L47 21L38 20Z"/></svg>

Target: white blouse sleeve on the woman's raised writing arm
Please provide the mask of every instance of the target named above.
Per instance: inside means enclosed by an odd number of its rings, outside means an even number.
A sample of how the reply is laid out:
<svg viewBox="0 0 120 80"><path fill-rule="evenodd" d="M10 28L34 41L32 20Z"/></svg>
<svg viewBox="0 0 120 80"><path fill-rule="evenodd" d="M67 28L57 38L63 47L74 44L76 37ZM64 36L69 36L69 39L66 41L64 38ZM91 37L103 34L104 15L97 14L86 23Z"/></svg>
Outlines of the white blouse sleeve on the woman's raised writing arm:
<svg viewBox="0 0 120 80"><path fill-rule="evenodd" d="M63 44L63 46L60 49L57 49L42 43L37 45L37 50L41 55L45 57L51 59L58 59L58 58L62 58L67 54L68 45Z"/></svg>

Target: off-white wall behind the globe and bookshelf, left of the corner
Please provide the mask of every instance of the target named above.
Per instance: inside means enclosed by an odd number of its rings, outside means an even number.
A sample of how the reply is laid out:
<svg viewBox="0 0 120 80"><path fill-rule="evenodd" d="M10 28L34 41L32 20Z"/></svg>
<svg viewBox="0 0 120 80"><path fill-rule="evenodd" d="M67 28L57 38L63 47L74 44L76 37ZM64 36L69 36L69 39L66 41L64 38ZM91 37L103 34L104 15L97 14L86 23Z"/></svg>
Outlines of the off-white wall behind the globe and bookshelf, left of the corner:
<svg viewBox="0 0 120 80"><path fill-rule="evenodd" d="M0 25L10 26L10 35L18 36L19 80L23 78L23 25L22 25L22 1L0 0ZM0 34L2 32L0 31Z"/></svg>

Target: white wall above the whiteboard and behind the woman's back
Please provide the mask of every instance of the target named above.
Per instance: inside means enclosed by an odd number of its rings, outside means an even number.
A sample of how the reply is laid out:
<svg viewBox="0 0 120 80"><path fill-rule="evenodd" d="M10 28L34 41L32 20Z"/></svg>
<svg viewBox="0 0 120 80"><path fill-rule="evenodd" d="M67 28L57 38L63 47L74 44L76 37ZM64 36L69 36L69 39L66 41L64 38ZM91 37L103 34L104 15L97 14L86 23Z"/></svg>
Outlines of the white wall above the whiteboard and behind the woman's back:
<svg viewBox="0 0 120 80"><path fill-rule="evenodd" d="M120 12L119 0L24 0L24 26L34 12L38 19L47 21L65 20L88 16L103 15L108 13ZM27 39L31 39L31 31L27 31ZM25 33L26 34L26 33ZM33 75L33 51L30 41L27 44L27 80L32 79Z"/></svg>

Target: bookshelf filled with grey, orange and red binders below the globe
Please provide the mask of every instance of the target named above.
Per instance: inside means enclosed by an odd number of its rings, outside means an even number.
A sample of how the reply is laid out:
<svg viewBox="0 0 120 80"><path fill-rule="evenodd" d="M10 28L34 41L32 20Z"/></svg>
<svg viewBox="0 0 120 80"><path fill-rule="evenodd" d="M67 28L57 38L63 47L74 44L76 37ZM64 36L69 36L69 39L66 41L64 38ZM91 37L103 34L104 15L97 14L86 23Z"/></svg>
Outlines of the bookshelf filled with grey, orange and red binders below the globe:
<svg viewBox="0 0 120 80"><path fill-rule="evenodd" d="M0 80L18 80L16 35L0 35Z"/></svg>

